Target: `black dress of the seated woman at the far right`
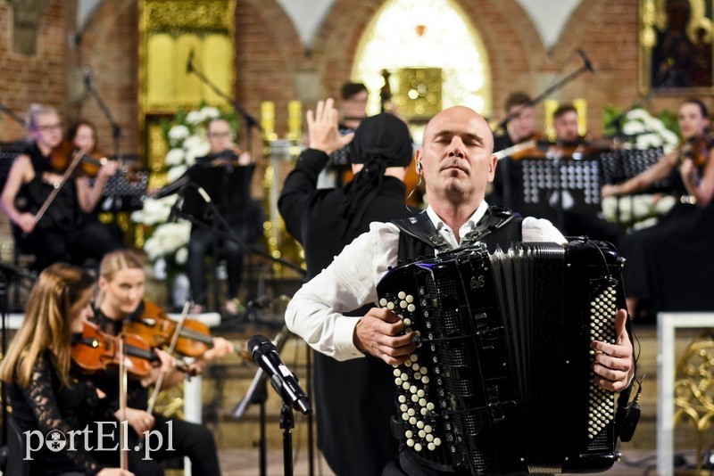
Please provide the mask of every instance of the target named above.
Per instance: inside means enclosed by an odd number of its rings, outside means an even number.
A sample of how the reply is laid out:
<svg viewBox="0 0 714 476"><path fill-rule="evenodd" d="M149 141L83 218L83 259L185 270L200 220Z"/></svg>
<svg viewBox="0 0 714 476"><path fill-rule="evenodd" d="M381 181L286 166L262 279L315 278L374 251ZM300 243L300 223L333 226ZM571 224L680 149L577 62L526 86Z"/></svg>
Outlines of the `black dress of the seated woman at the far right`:
<svg viewBox="0 0 714 476"><path fill-rule="evenodd" d="M669 183L686 193L679 169ZM649 302L653 312L714 309L714 201L705 208L681 203L657 225L622 239L628 298Z"/></svg>

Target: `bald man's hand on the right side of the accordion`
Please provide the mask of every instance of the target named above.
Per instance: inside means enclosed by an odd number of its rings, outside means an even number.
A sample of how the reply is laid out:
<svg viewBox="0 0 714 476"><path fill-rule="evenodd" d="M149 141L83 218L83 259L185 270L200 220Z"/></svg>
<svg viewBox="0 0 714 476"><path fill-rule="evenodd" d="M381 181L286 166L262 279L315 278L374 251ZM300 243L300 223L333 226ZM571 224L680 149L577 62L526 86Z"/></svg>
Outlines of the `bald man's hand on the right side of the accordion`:
<svg viewBox="0 0 714 476"><path fill-rule="evenodd" d="M602 341L593 341L590 344L593 349L598 351L597 355L595 355L593 370L595 384L602 389L624 390L632 380L635 359L633 357L632 341L630 341L625 327L626 322L627 311L619 309L617 316L615 316L617 341L614 344Z"/></svg>

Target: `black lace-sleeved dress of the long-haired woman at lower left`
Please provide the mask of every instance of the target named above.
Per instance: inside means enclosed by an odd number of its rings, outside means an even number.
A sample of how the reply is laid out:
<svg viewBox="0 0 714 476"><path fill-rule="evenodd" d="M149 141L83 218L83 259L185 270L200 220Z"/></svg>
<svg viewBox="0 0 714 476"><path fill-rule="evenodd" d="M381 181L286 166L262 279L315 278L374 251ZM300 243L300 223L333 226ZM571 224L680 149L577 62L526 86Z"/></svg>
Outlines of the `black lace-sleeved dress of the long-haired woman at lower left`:
<svg viewBox="0 0 714 476"><path fill-rule="evenodd" d="M46 351L37 357L27 387L12 383L6 388L12 419L23 435L26 431L33 432L28 433L28 449L33 450L29 453L32 458L28 462L29 474L96 474L104 468L85 450L83 437L75 437L74 449L70 447L70 431L84 430L87 425L89 430L96 431L92 423L106 421L92 382L73 379L71 387L62 386L50 352ZM55 434L59 436L57 441L53 439ZM62 441L65 445L61 449L50 449L58 448ZM40 449L34 450L36 447Z"/></svg>

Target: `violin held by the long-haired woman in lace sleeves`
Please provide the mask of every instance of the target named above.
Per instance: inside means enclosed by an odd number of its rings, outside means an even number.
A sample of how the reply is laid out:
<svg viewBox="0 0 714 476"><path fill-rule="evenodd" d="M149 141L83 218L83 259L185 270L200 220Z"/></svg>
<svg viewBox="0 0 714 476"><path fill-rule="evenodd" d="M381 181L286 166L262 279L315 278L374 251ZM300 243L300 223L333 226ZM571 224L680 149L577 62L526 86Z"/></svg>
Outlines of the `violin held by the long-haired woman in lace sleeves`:
<svg viewBox="0 0 714 476"><path fill-rule="evenodd" d="M87 372L99 372L111 365L120 365L120 337L102 332L96 324L85 323L81 334L73 336L71 346L72 362ZM154 349L136 334L125 334L124 354L127 372L137 378L151 372L159 356ZM177 369L195 374L188 365L177 361Z"/></svg>

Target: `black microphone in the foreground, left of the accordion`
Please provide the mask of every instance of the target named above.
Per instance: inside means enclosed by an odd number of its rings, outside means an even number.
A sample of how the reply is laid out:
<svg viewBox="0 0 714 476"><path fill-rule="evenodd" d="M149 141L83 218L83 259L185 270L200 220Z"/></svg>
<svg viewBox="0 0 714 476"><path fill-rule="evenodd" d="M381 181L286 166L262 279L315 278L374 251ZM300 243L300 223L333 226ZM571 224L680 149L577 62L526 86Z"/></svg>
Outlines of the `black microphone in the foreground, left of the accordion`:
<svg viewBox="0 0 714 476"><path fill-rule="evenodd" d="M302 414L311 414L312 409L307 395L300 388L293 373L280 360L275 344L267 337L256 334L248 341L248 350L250 350L255 364L270 376L273 389L280 394L283 401Z"/></svg>

